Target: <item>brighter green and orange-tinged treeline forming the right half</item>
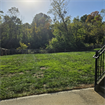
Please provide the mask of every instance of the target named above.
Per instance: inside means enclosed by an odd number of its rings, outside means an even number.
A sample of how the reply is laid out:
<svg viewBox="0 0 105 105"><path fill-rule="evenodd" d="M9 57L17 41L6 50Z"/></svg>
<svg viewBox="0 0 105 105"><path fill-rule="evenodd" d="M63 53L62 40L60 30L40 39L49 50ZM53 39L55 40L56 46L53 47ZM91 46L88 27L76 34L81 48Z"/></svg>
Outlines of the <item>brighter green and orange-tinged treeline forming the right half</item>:
<svg viewBox="0 0 105 105"><path fill-rule="evenodd" d="M105 22L98 11L83 15L80 19L70 17L63 22L53 24L53 35L48 49L54 51L86 50L105 44Z"/></svg>

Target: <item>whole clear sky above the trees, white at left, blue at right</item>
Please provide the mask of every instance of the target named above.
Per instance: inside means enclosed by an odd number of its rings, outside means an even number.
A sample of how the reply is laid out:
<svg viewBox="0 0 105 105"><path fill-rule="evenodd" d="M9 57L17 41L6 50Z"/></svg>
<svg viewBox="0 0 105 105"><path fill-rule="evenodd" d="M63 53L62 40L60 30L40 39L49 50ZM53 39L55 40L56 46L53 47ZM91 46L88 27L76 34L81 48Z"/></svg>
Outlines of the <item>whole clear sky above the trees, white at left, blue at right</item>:
<svg viewBox="0 0 105 105"><path fill-rule="evenodd" d="M85 14L90 14L94 11L101 11L105 9L105 0L67 0L67 15L74 17L81 17ZM16 7L19 9L20 18L23 23L32 23L34 16L38 13L47 14L51 8L50 0L0 0L0 10L7 14L8 9ZM52 15L47 14L50 17ZM105 21L105 17L103 19Z"/></svg>

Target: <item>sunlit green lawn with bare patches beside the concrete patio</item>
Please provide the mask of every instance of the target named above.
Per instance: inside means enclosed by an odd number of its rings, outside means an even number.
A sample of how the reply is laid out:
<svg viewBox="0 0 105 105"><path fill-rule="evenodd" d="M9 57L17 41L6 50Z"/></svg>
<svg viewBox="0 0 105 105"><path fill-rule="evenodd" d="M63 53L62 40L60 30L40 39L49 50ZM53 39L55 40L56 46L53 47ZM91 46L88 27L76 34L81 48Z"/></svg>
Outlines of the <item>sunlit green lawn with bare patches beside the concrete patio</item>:
<svg viewBox="0 0 105 105"><path fill-rule="evenodd" d="M94 53L0 56L0 100L93 84Z"/></svg>

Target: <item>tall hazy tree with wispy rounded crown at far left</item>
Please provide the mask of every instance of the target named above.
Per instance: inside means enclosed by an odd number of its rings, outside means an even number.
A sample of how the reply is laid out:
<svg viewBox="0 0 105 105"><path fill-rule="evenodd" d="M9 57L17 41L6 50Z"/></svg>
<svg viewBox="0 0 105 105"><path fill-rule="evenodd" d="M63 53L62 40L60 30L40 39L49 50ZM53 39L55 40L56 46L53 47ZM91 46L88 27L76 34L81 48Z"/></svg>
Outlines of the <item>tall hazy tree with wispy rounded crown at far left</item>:
<svg viewBox="0 0 105 105"><path fill-rule="evenodd" d="M17 48L19 46L21 20L16 15L18 13L18 9L14 7L8 10L9 15L4 16L2 24L3 32L0 37L2 46L5 46L5 48Z"/></svg>

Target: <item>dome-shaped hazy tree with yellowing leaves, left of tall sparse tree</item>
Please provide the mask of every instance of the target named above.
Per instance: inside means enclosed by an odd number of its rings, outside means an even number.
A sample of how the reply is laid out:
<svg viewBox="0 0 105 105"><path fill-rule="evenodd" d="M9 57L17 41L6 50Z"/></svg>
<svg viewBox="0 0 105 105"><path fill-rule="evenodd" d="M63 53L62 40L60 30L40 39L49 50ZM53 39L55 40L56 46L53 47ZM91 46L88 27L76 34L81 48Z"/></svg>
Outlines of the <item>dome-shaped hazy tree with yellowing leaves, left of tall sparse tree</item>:
<svg viewBox="0 0 105 105"><path fill-rule="evenodd" d="M31 24L32 39L31 46L35 49L45 48L49 40L53 37L51 33L51 19L43 13L36 14Z"/></svg>

